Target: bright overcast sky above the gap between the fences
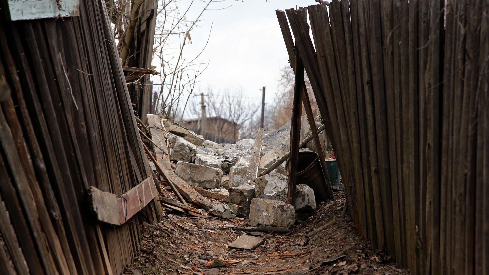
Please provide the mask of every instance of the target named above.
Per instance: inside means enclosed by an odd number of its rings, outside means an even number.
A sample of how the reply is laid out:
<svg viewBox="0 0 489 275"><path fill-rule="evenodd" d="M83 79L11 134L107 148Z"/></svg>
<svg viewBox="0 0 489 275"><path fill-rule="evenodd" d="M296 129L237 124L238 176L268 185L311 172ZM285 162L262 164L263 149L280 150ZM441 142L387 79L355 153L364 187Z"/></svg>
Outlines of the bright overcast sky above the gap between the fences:
<svg viewBox="0 0 489 275"><path fill-rule="evenodd" d="M184 11L191 0L182 0ZM207 1L205 1L207 2ZM187 13L193 20L205 5L194 0ZM210 40L199 59L207 62L208 68L198 78L195 92L205 92L207 87L241 87L247 100L260 103L262 87L266 86L266 104L271 104L277 92L280 70L289 66L288 54L275 14L284 10L316 4L314 0L225 0L213 2L202 17L199 27L190 32L192 44L185 45L187 60L199 54ZM191 100L200 100L192 97ZM186 117L191 116L186 112Z"/></svg>

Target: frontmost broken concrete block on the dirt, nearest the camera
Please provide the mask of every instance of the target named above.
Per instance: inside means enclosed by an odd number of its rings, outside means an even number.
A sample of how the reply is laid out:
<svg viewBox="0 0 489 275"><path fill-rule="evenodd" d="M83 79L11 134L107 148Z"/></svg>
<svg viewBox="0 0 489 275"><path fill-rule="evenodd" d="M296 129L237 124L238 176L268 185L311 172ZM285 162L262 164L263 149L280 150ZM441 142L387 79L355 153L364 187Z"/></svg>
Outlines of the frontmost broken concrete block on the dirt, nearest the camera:
<svg viewBox="0 0 489 275"><path fill-rule="evenodd" d="M284 202L254 198L251 200L249 223L290 228L295 222L294 206Z"/></svg>

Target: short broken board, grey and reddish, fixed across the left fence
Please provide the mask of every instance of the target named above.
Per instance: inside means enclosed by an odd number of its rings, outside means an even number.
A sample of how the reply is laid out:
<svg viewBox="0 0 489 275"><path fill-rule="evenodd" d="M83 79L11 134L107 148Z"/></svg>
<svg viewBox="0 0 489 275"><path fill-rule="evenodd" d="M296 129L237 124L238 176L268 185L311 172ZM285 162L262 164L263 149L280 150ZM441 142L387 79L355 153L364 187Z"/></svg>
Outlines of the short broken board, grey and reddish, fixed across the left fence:
<svg viewBox="0 0 489 275"><path fill-rule="evenodd" d="M157 195L152 177L148 177L120 197L94 186L89 188L91 210L95 212L99 221L112 225L124 224Z"/></svg>

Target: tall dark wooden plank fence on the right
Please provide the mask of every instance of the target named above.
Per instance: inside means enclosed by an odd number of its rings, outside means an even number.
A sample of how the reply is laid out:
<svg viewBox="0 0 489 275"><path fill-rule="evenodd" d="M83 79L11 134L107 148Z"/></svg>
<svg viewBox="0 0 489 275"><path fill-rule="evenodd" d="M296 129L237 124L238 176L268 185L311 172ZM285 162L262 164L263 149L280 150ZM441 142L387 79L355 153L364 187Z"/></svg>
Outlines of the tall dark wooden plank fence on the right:
<svg viewBox="0 0 489 275"><path fill-rule="evenodd" d="M359 233L413 274L489 274L489 2L333 0L277 17Z"/></svg>

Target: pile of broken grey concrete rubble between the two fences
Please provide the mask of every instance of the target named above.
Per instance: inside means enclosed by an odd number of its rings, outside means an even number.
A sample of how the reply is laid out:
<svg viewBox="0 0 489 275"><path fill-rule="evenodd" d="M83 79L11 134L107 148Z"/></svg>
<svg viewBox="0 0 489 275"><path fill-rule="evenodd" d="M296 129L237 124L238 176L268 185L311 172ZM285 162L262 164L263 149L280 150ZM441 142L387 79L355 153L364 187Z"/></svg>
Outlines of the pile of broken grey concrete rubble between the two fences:
<svg viewBox="0 0 489 275"><path fill-rule="evenodd" d="M216 143L176 123L165 122L165 128L169 132L170 159L176 162L178 177L196 188L228 196L227 202L221 200L222 204L215 204L208 213L222 218L249 217L253 226L290 228L299 213L316 208L314 192L304 184L296 186L294 205L285 203L289 180L285 162L267 175L260 176L289 152L289 123L264 135L258 177L247 183L245 177L254 139L242 139L236 144ZM303 117L301 139L309 131L307 119Z"/></svg>

